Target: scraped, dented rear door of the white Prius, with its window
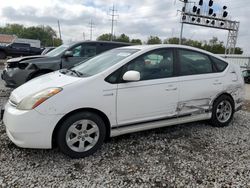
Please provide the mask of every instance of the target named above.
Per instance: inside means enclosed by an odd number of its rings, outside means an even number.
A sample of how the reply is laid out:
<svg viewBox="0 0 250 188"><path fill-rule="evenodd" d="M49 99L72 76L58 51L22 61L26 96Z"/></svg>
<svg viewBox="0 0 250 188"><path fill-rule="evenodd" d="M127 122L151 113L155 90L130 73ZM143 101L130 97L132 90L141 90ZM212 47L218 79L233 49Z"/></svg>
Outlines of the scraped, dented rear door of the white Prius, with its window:
<svg viewBox="0 0 250 188"><path fill-rule="evenodd" d="M216 72L211 58L193 50L178 50L179 115L205 113L223 91L223 73Z"/></svg>

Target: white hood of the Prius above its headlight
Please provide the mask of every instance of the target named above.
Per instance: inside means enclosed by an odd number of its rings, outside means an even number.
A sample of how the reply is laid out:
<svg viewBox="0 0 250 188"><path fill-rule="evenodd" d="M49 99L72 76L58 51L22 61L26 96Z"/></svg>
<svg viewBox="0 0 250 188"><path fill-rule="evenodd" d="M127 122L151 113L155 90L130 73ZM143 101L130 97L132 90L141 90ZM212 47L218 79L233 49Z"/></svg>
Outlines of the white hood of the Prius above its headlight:
<svg viewBox="0 0 250 188"><path fill-rule="evenodd" d="M23 98L36 92L52 87L63 87L81 79L83 78L68 76L60 73L59 71L45 74L43 76L34 78L13 90L10 100L14 103L19 103Z"/></svg>

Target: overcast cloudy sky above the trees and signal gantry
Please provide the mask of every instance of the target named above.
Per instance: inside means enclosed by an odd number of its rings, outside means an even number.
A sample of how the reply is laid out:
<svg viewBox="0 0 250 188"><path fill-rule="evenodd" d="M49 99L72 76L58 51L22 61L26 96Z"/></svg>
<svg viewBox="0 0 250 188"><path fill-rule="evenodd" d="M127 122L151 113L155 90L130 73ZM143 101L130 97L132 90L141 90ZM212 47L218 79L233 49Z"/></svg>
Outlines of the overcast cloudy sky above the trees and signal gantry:
<svg viewBox="0 0 250 188"><path fill-rule="evenodd" d="M193 0L198 2L198 0ZM206 1L206 0L204 0ZM214 0L216 9L227 5L229 16L240 21L237 46L250 54L250 3L249 0ZM20 23L25 26L50 25L56 31L60 20L64 42L90 38L89 22L94 22L93 39L110 33L108 16L112 5L117 9L115 34L127 34L130 38L144 41L150 35L162 40L179 37L182 3L178 0L0 0L0 26ZM184 26L184 37L194 40L209 40L213 36L226 43L227 31L197 26Z"/></svg>

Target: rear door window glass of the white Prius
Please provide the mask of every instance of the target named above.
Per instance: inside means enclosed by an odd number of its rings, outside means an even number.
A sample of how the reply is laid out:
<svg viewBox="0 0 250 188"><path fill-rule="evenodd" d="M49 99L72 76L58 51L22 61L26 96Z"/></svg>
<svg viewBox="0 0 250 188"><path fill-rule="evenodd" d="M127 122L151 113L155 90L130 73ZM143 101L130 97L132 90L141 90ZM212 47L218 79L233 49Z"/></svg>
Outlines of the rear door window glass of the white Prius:
<svg viewBox="0 0 250 188"><path fill-rule="evenodd" d="M179 50L180 75L208 74L213 65L205 54L190 50Z"/></svg>

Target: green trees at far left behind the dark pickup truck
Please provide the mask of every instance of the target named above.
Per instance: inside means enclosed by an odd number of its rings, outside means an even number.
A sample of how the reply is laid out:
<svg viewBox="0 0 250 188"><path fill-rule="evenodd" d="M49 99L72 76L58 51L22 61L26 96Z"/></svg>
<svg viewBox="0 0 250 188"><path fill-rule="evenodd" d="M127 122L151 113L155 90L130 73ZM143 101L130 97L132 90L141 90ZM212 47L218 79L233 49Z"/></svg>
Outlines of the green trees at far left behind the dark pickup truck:
<svg viewBox="0 0 250 188"><path fill-rule="evenodd" d="M52 46L53 44L59 46L62 44L56 31L50 26L24 27L21 24L7 24L5 27L0 27L0 33L16 35L18 38L40 40L42 46Z"/></svg>

